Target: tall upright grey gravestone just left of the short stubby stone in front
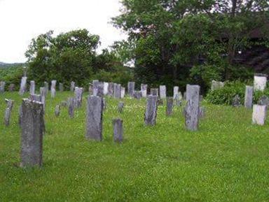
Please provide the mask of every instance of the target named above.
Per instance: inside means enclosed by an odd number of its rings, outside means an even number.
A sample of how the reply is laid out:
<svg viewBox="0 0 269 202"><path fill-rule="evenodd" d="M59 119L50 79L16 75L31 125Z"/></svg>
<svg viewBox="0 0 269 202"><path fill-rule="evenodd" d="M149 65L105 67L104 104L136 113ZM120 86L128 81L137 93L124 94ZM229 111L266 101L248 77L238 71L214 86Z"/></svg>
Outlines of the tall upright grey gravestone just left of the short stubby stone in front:
<svg viewBox="0 0 269 202"><path fill-rule="evenodd" d="M87 139L102 140L102 115L102 97L88 96L85 134Z"/></svg>

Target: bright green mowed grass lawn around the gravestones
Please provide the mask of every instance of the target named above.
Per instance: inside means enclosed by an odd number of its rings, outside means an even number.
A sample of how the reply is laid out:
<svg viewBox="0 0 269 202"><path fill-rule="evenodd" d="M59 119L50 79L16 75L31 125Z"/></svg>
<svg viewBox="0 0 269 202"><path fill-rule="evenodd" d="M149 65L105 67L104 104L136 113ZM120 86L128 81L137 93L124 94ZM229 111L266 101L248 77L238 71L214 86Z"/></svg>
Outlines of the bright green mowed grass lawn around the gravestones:
<svg viewBox="0 0 269 202"><path fill-rule="evenodd" d="M54 109L69 92L46 100L43 167L20 168L18 92L0 94L0 201L269 201L269 124L251 124L251 110L213 106L197 132L186 131L182 107L144 126L146 100L106 98L102 142L85 140L83 107L69 118ZM27 95L25 95L27 97ZM4 126L5 98L14 99ZM113 143L112 119L123 119L124 142Z"/></svg>

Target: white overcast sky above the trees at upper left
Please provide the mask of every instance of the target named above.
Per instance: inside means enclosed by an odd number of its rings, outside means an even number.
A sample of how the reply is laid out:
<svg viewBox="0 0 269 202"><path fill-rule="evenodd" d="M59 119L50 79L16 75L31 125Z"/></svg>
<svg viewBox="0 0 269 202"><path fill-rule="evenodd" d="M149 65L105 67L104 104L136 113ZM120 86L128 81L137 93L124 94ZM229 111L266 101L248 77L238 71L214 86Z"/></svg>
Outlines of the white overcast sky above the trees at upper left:
<svg viewBox="0 0 269 202"><path fill-rule="evenodd" d="M0 0L0 62L25 62L31 39L49 30L85 28L106 48L126 38L109 24L119 9L119 0Z"/></svg>

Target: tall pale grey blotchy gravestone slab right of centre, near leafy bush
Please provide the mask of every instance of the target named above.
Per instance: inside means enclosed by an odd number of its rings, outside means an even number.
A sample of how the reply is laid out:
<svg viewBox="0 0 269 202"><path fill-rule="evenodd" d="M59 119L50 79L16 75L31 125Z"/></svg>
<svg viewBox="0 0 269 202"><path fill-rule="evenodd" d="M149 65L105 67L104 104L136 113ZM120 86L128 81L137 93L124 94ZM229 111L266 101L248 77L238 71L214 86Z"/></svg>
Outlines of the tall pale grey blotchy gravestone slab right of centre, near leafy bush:
<svg viewBox="0 0 269 202"><path fill-rule="evenodd" d="M187 85L186 87L186 107L185 124L190 131L197 131L199 125L199 85Z"/></svg>

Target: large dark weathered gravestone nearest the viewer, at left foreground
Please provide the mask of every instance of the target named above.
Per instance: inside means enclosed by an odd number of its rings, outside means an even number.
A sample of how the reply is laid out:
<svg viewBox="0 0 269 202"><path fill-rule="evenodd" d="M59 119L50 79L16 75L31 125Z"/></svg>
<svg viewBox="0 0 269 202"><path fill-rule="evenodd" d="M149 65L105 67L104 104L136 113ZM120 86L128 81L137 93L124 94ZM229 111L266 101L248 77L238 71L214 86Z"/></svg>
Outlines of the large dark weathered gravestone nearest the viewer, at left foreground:
<svg viewBox="0 0 269 202"><path fill-rule="evenodd" d="M21 166L42 165L44 134L43 103L22 100Z"/></svg>

